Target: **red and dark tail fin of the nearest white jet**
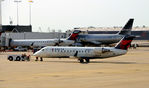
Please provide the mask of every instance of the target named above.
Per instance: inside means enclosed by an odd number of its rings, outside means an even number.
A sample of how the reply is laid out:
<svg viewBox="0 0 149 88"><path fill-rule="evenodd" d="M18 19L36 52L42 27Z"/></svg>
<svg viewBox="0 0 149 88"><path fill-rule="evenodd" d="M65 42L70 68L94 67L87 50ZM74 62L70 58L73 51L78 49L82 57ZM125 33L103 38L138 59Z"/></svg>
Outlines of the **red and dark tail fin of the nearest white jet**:
<svg viewBox="0 0 149 88"><path fill-rule="evenodd" d="M116 49L127 50L135 36L125 36L120 40L120 42L115 46Z"/></svg>

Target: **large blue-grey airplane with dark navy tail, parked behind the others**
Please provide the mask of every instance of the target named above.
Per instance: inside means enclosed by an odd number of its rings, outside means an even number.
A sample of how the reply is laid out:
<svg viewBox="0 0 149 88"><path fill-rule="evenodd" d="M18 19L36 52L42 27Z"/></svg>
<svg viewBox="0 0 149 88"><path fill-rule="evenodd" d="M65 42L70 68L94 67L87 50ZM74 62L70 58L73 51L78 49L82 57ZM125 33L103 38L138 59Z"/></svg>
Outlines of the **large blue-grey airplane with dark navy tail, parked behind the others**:
<svg viewBox="0 0 149 88"><path fill-rule="evenodd" d="M134 19L129 19L126 25L117 34L79 34L75 44L82 46L99 46L117 43L125 35L131 35L133 21Z"/></svg>

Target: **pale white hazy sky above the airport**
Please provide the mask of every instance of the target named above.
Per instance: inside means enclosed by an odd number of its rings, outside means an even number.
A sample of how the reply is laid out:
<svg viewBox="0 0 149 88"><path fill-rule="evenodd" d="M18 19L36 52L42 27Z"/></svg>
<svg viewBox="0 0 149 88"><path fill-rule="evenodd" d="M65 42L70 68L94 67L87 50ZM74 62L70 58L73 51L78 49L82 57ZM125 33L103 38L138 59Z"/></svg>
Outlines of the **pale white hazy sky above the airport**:
<svg viewBox="0 0 149 88"><path fill-rule="evenodd" d="M17 24L17 4L2 3L2 24ZM31 24L34 32L66 31L75 27L124 26L134 18L134 26L149 26L149 0L21 0L18 4L19 25ZM41 29L41 30L40 30Z"/></svg>

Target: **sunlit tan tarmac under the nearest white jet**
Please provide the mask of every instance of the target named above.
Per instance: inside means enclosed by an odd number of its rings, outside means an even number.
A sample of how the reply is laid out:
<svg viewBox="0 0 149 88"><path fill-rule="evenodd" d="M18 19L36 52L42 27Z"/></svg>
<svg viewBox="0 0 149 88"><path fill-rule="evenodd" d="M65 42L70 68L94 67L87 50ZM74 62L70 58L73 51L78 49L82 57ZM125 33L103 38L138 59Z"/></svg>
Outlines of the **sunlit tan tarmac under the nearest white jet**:
<svg viewBox="0 0 149 88"><path fill-rule="evenodd" d="M0 53L0 88L149 87L149 47L129 49L126 55L88 64L69 58L44 58L40 62L34 56L31 61L7 60L7 55L21 53Z"/></svg>

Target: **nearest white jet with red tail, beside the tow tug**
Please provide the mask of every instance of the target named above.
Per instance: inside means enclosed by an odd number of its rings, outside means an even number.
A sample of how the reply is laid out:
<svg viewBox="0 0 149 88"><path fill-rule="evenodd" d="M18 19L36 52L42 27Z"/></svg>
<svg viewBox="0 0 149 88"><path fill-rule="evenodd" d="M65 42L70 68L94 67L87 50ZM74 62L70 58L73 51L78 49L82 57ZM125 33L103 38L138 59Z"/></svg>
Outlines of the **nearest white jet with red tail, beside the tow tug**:
<svg viewBox="0 0 149 88"><path fill-rule="evenodd" d="M127 53L134 36L125 36L115 47L54 47L47 46L34 53L34 56L42 58L69 58L76 57L80 63L84 60L100 59L124 55Z"/></svg>

